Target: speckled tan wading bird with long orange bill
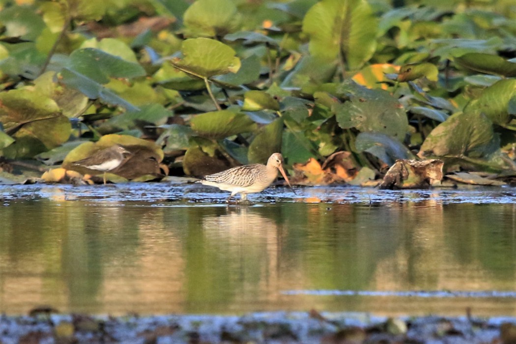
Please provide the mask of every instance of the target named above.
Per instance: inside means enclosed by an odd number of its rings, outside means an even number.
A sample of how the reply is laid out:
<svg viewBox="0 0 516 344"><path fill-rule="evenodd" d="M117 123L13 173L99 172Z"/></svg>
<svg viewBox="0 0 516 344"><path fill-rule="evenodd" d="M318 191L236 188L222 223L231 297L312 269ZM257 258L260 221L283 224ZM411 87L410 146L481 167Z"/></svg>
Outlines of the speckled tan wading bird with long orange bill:
<svg viewBox="0 0 516 344"><path fill-rule="evenodd" d="M253 163L252 165L237 166L222 172L209 174L200 181L203 185L215 186L220 190L231 191L226 202L239 193L240 201L247 200L248 193L265 190L278 177L278 170L285 178L288 186L292 188L283 170L283 157L280 153L272 154L267 160L267 165Z"/></svg>

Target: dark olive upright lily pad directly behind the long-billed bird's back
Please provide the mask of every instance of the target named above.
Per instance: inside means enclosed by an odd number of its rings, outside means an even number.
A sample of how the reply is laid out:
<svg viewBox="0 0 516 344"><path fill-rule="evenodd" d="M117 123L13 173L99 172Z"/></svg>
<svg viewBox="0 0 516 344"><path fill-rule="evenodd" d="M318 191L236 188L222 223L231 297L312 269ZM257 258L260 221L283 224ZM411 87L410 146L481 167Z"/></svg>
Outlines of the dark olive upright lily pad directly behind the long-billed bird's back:
<svg viewBox="0 0 516 344"><path fill-rule="evenodd" d="M247 154L251 163L267 161L272 153L280 152L283 134L283 119L278 118L260 129L249 145Z"/></svg>

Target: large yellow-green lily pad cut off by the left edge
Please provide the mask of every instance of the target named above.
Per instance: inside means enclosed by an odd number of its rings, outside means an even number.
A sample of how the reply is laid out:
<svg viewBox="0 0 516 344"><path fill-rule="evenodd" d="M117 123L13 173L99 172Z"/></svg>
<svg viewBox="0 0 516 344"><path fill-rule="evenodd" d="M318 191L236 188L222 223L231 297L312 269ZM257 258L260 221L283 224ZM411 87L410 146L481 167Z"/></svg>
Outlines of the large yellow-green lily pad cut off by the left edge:
<svg viewBox="0 0 516 344"><path fill-rule="evenodd" d="M25 89L0 93L0 123L15 142L3 150L8 158L33 157L68 140L71 124L54 100Z"/></svg>

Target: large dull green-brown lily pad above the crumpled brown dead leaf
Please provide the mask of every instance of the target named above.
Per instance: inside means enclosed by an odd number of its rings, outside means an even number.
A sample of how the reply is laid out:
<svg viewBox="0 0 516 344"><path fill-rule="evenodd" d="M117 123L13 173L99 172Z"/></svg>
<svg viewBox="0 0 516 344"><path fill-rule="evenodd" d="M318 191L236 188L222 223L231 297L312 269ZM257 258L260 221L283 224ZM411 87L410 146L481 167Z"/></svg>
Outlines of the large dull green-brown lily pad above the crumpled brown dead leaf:
<svg viewBox="0 0 516 344"><path fill-rule="evenodd" d="M493 122L480 112L461 112L435 127L421 145L422 156L483 157L496 150Z"/></svg>

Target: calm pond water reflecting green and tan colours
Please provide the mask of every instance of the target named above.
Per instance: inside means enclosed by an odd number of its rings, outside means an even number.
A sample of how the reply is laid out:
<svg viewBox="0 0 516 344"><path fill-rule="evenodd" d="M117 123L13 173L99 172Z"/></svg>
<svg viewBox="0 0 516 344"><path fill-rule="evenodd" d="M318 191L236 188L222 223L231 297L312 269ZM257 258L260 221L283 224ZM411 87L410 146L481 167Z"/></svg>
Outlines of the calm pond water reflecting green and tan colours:
<svg viewBox="0 0 516 344"><path fill-rule="evenodd" d="M0 186L0 312L516 316L516 189Z"/></svg>

